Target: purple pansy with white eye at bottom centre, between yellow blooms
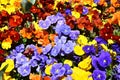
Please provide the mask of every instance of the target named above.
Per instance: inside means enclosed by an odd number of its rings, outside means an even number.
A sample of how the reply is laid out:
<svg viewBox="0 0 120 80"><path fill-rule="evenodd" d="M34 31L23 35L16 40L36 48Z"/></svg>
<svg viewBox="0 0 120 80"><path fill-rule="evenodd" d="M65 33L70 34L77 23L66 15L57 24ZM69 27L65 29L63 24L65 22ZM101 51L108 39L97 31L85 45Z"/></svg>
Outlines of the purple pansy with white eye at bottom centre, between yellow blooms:
<svg viewBox="0 0 120 80"><path fill-rule="evenodd" d="M65 74L66 69L63 67L62 63L53 64L51 68L51 74L55 77L62 77Z"/></svg>

